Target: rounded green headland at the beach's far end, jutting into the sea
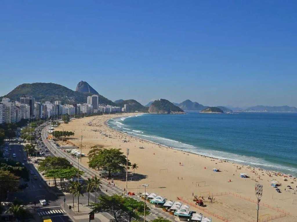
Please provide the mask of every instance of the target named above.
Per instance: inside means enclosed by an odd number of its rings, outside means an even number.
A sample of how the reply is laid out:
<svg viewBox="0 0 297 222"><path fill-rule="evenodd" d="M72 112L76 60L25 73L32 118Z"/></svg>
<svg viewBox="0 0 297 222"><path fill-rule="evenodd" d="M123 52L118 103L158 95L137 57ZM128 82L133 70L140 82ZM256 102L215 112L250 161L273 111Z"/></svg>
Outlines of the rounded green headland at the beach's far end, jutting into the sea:
<svg viewBox="0 0 297 222"><path fill-rule="evenodd" d="M149 107L150 113L170 114L170 113L184 113L178 106L172 104L166 99L155 100Z"/></svg>

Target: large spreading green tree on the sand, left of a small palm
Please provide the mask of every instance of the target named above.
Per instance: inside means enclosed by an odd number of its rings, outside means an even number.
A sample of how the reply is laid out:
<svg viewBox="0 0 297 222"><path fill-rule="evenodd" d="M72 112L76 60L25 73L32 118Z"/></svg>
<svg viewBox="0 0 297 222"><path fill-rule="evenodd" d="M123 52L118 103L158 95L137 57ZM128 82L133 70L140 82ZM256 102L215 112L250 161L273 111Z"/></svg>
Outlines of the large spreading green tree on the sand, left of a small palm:
<svg viewBox="0 0 297 222"><path fill-rule="evenodd" d="M128 161L128 165L131 163ZM111 172L123 171L126 166L126 156L120 149L101 149L97 155L89 158L89 167L95 169L104 169L108 171L108 176L111 176Z"/></svg>

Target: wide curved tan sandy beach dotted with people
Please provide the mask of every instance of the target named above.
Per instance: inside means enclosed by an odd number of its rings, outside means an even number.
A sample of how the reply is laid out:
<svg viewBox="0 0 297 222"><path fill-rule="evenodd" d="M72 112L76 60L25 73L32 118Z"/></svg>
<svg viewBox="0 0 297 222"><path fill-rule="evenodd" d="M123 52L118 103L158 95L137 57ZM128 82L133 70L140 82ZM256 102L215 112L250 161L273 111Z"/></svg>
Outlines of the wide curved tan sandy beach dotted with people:
<svg viewBox="0 0 297 222"><path fill-rule="evenodd" d="M130 162L138 165L135 174L133 170L129 170L128 191L135 194L143 192L141 185L146 183L149 184L147 192L158 193L169 200L175 201L179 198L186 203L194 204L193 195L203 196L206 206L203 208L191 206L191 210L203 213L213 221L225 219L225 221L252 222L256 218L254 188L256 183L260 183L263 185L260 219L297 221L297 181L293 177L284 177L282 174L238 163L170 149L118 132L105 124L110 118L130 115L139 115L139 113L80 118L68 124L61 124L55 130L64 129L75 133L74 139L69 139L68 143L64 142L64 145L72 144L80 147L81 136L83 136L82 152L86 156L89 148L94 145L122 149L124 154L129 148ZM59 143L62 144L61 141ZM83 157L83 165L88 166L87 162L88 158ZM221 172L214 172L213 168L219 168ZM247 173L250 178L241 178L240 173ZM284 181L284 178L287 181ZM277 193L271 186L272 180L282 184L279 187L281 193ZM115 179L115 183L123 188L126 186L125 179ZM213 203L208 200L208 196L213 196Z"/></svg>

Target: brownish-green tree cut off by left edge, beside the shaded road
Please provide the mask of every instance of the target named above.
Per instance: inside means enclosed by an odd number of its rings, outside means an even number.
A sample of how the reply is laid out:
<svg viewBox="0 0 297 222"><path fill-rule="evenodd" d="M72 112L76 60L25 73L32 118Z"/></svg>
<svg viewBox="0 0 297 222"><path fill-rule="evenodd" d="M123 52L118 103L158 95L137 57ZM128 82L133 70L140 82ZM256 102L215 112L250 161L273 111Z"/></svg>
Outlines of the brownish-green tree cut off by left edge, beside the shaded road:
<svg viewBox="0 0 297 222"><path fill-rule="evenodd" d="M7 192L15 192L18 190L19 177L7 170L0 170L0 206Z"/></svg>

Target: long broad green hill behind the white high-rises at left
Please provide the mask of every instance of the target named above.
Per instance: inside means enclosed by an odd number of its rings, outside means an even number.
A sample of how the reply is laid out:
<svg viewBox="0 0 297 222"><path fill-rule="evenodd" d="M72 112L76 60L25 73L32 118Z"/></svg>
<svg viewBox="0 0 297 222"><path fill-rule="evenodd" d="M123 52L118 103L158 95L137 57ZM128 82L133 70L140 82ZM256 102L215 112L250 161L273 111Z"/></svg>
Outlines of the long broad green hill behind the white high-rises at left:
<svg viewBox="0 0 297 222"><path fill-rule="evenodd" d="M37 102L54 102L60 100L62 104L74 104L86 103L87 96L93 94L76 92L55 83L24 83L3 97L20 101L20 96L22 95L33 96ZM99 95L99 103L115 105L112 101L101 95Z"/></svg>

